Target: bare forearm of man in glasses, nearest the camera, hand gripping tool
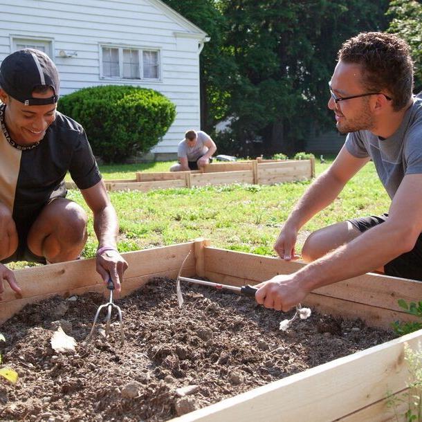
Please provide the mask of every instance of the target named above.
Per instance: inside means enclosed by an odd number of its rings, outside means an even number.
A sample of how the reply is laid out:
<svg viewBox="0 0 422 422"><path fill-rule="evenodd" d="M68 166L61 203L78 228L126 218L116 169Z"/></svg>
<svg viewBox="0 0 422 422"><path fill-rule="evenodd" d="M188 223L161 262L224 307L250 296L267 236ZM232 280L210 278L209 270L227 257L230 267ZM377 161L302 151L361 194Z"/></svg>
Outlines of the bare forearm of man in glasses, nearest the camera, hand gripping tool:
<svg viewBox="0 0 422 422"><path fill-rule="evenodd" d="M384 266L387 262L407 252L403 230L380 224L348 244L306 265L294 278L306 291L356 277Z"/></svg>

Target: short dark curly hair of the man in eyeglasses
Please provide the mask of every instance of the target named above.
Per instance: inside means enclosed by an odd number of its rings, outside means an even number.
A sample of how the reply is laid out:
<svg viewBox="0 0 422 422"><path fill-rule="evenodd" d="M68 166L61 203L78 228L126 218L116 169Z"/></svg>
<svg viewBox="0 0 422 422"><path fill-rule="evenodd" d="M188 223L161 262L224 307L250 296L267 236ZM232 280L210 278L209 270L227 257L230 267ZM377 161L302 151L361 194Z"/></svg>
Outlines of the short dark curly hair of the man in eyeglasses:
<svg viewBox="0 0 422 422"><path fill-rule="evenodd" d="M342 45L338 59L362 65L365 88L374 92L387 89L395 111L409 103L413 91L413 62L410 47L397 35L360 33Z"/></svg>

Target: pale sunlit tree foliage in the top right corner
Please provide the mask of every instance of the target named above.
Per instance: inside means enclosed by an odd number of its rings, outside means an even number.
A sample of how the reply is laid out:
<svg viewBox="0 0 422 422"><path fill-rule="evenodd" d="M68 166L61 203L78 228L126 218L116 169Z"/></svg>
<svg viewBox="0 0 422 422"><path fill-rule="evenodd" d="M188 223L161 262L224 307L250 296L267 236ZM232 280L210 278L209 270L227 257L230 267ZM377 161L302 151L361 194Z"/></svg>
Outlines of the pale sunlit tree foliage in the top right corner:
<svg viewBox="0 0 422 422"><path fill-rule="evenodd" d="M394 0L387 15L393 19L388 32L407 41L415 66L415 91L422 90L422 4L414 0Z"/></svg>

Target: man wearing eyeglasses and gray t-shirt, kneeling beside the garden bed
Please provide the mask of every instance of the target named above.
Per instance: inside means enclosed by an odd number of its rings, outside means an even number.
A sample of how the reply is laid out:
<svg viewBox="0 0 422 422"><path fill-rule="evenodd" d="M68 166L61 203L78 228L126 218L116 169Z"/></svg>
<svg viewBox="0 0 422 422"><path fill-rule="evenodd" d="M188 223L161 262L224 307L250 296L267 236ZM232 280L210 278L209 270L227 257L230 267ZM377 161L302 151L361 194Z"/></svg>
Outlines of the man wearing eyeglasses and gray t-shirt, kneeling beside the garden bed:
<svg viewBox="0 0 422 422"><path fill-rule="evenodd" d="M297 232L369 160L392 204L383 215L313 232L302 248L309 264L259 284L257 302L287 311L315 288L377 269L422 280L422 95L413 96L412 89L409 46L396 35L362 33L342 45L328 107L346 142L295 205L275 250L295 259Z"/></svg>

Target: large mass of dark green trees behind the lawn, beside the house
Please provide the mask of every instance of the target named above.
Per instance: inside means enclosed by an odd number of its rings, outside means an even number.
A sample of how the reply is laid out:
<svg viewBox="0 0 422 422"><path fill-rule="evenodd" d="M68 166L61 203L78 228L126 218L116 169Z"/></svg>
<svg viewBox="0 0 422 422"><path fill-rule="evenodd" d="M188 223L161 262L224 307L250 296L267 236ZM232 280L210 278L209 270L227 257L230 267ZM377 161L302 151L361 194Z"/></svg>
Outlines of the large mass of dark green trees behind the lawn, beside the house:
<svg viewBox="0 0 422 422"><path fill-rule="evenodd" d="M166 3L210 35L201 53L202 125L211 131L232 118L223 142L244 155L291 154L315 127L334 127L327 83L340 45L387 27L388 0Z"/></svg>

